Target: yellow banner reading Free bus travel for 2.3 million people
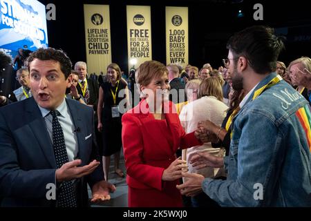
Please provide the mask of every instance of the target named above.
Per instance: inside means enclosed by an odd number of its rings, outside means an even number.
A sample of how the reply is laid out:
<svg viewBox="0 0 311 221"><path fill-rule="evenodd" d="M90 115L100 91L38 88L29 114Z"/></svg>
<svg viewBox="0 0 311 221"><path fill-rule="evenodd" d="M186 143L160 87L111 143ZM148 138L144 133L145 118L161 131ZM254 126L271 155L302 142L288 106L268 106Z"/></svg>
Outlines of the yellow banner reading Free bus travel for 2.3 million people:
<svg viewBox="0 0 311 221"><path fill-rule="evenodd" d="M150 6L126 6L129 70L152 60Z"/></svg>

